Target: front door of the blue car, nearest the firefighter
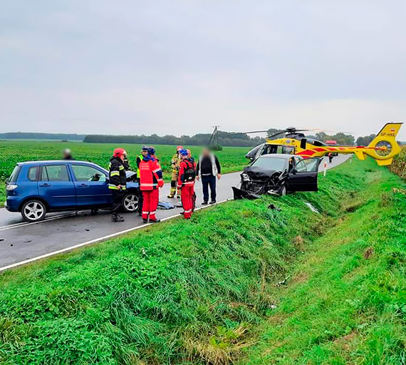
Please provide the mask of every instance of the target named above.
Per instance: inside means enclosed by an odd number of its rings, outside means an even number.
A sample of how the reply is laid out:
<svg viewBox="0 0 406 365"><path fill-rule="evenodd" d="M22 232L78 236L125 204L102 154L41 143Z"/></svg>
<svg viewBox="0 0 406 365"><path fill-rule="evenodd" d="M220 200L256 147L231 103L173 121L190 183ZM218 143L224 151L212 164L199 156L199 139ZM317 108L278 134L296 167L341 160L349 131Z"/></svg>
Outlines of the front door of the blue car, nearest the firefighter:
<svg viewBox="0 0 406 365"><path fill-rule="evenodd" d="M108 189L103 170L90 165L72 163L78 207L103 207L111 205L112 193Z"/></svg>

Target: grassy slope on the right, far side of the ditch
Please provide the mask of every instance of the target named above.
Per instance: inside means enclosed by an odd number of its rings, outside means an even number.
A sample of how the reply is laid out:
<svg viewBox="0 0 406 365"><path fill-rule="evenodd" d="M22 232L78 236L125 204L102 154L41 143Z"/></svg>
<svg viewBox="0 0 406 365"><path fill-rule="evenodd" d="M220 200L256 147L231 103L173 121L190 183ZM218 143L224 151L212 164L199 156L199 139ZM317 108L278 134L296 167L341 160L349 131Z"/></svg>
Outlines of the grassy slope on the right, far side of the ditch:
<svg viewBox="0 0 406 365"><path fill-rule="evenodd" d="M241 364L406 364L406 190L371 170L362 204L308 248Z"/></svg>

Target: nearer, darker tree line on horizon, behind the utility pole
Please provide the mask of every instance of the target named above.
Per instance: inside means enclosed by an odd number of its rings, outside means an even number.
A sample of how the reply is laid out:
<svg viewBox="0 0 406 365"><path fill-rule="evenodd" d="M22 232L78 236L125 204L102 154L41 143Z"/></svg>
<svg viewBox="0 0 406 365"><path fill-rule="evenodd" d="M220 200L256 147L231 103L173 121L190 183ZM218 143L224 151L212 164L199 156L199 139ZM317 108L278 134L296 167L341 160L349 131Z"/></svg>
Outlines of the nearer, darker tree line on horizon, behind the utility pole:
<svg viewBox="0 0 406 365"><path fill-rule="evenodd" d="M196 135L175 135L160 136L157 134L152 135L86 135L83 142L87 143L134 143L145 145L207 145L211 133L199 133ZM246 134L233 134L229 132L219 131L219 145L246 147L259 145L264 143L265 138L254 137L251 138ZM215 141L217 143L217 139Z"/></svg>

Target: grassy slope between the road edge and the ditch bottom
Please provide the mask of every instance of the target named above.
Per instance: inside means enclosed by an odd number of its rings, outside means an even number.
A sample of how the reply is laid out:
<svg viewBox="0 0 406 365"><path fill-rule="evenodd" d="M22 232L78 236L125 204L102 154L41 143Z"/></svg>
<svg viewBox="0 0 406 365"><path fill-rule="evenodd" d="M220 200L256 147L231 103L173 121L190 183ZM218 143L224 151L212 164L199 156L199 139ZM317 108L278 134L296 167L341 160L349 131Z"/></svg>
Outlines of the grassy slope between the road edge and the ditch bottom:
<svg viewBox="0 0 406 365"><path fill-rule="evenodd" d="M6 272L0 362L229 364L259 341L249 354L256 361L296 262L375 195L378 204L381 190L399 184L389 177L372 161L354 160L321 178L317 194L229 202L189 222L172 220ZM389 212L400 203L386 194L382 210ZM402 255L393 257L397 267Z"/></svg>

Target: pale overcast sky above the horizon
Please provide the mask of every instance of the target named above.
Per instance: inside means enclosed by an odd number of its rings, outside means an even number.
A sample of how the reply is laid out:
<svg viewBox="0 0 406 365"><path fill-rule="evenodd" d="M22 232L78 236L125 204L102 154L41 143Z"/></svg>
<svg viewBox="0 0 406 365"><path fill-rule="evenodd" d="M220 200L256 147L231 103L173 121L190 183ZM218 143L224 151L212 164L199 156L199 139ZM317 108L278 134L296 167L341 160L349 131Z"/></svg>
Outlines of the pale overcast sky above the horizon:
<svg viewBox="0 0 406 365"><path fill-rule="evenodd" d="M406 119L405 15L404 0L1 1L0 131L377 133Z"/></svg>

